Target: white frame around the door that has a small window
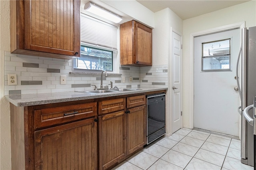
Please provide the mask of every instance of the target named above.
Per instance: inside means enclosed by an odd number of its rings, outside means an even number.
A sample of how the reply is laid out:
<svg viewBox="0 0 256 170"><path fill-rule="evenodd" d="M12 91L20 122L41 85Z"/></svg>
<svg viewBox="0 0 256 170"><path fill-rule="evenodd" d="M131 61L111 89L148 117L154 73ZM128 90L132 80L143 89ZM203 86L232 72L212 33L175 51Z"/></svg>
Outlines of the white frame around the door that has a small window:
<svg viewBox="0 0 256 170"><path fill-rule="evenodd" d="M240 35L242 33L242 28L245 27L245 21L244 22L239 22L239 23L234 23L230 25L224 25L222 27L216 27L212 29L207 29L203 31L198 31L194 33L190 33L190 47L189 47L189 53L190 53L190 90L189 90L189 128L193 129L194 128L194 37L200 36L200 35L207 35L210 33L216 33L220 31L226 31L229 29L234 29L234 28L240 28ZM240 36L240 43L242 42L242 35Z"/></svg>

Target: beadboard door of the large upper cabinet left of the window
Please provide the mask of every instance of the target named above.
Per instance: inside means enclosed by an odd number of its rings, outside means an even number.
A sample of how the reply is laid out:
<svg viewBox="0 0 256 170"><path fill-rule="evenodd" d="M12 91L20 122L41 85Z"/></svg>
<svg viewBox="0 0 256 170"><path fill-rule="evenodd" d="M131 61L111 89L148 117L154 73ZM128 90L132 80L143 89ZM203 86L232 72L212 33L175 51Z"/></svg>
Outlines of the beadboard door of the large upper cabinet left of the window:
<svg viewBox="0 0 256 170"><path fill-rule="evenodd" d="M25 0L24 6L25 49L80 56L80 1Z"/></svg>

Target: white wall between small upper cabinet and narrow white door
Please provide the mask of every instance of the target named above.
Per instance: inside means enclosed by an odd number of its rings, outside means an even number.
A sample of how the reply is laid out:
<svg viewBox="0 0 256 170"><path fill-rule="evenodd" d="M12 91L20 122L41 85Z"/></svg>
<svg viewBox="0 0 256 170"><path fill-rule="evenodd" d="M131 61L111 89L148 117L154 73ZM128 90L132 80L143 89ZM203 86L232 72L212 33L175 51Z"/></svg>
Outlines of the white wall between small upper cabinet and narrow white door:
<svg viewBox="0 0 256 170"><path fill-rule="evenodd" d="M152 64L168 63L168 91L166 93L166 135L172 134L171 116L171 28L182 34L183 20L166 8L155 13L155 27L152 30Z"/></svg>

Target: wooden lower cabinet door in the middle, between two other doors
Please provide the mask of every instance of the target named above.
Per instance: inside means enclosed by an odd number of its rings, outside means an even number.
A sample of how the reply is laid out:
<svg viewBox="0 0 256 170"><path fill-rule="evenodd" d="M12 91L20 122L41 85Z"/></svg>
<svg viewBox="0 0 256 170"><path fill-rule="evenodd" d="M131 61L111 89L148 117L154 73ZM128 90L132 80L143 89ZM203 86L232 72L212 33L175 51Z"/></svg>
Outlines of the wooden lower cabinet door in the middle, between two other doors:
<svg viewBox="0 0 256 170"><path fill-rule="evenodd" d="M126 156L126 117L124 111L119 111L98 118L99 169L105 170Z"/></svg>

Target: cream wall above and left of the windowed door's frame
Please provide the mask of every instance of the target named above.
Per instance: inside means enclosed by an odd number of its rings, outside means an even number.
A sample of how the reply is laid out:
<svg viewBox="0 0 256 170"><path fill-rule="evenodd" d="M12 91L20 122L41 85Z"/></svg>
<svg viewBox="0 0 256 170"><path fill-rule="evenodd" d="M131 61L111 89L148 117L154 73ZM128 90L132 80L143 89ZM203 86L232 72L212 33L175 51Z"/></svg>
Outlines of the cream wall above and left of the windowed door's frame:
<svg viewBox="0 0 256 170"><path fill-rule="evenodd" d="M183 21L183 125L190 127L190 116L192 114L192 49L190 49L190 34L198 31L240 23L245 21L246 27L256 25L256 1L249 1L236 6L204 14Z"/></svg>

